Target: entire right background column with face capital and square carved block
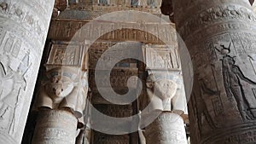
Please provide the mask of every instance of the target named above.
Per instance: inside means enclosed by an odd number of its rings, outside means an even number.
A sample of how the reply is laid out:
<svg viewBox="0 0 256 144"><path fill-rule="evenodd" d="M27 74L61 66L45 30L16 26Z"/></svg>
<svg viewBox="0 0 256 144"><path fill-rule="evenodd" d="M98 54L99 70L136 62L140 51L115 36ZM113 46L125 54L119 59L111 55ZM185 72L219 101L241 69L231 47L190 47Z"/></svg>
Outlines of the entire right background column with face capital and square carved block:
<svg viewBox="0 0 256 144"><path fill-rule="evenodd" d="M187 101L177 47L175 43L172 46L149 45L144 51L147 93L152 104L148 113L160 111L154 122L145 128L146 143L186 144L181 115L187 113Z"/></svg>

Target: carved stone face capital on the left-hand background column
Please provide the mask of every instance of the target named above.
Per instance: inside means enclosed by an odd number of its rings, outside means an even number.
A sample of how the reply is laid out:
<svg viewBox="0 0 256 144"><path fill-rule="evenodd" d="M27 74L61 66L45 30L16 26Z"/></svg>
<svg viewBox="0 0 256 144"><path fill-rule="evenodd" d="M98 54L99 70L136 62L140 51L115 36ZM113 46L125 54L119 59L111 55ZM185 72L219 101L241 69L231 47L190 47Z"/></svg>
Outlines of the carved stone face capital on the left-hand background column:
<svg viewBox="0 0 256 144"><path fill-rule="evenodd" d="M83 76L63 67L50 70L47 75L48 81L41 86L37 107L68 108L77 118L81 118L88 90Z"/></svg>

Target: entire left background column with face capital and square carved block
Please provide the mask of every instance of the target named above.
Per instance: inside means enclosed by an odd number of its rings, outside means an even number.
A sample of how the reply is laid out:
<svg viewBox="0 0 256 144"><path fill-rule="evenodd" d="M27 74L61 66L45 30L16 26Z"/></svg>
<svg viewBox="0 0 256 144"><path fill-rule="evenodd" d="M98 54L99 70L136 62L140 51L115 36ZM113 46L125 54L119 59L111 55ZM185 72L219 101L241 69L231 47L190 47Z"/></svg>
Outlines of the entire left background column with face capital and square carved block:
<svg viewBox="0 0 256 144"><path fill-rule="evenodd" d="M33 144L75 144L84 127L88 91L87 55L84 45L53 43L45 78L37 96L39 117Z"/></svg>

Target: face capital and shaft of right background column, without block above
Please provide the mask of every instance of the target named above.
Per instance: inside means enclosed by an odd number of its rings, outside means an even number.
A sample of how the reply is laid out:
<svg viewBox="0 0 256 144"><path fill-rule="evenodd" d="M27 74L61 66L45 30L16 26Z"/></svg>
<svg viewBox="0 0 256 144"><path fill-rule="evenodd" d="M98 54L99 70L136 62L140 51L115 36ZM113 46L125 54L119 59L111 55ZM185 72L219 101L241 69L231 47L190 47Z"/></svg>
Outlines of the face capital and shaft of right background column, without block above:
<svg viewBox="0 0 256 144"><path fill-rule="evenodd" d="M179 97L182 95L176 94L177 82L175 82L175 78L170 75L164 76L165 74L154 73L154 75L148 76L147 91L148 96L151 97L151 103L153 103L150 113L162 112L152 124L146 127L146 143L186 144L184 121L180 116L186 111L186 100L180 99Z"/></svg>

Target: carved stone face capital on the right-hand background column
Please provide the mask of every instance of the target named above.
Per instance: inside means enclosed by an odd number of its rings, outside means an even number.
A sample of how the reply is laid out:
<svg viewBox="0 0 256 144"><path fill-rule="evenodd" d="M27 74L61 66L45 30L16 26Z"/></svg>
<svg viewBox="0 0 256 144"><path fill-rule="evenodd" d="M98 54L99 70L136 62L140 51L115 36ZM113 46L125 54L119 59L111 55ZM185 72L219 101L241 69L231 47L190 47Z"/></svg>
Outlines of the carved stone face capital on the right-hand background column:
<svg viewBox="0 0 256 144"><path fill-rule="evenodd" d="M167 77L154 77L150 74L147 79L148 97L152 107L149 111L160 110L183 114L186 111L186 100L182 95L177 95L179 85L175 80Z"/></svg>

